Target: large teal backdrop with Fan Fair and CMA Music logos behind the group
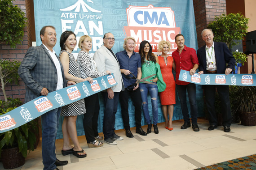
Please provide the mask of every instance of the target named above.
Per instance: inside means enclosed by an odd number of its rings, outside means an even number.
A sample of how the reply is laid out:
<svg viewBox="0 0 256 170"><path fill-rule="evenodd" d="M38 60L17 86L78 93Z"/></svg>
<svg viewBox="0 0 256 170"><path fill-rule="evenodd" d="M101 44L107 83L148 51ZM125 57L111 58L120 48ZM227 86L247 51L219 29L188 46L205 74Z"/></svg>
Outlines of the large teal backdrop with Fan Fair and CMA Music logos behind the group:
<svg viewBox="0 0 256 170"><path fill-rule="evenodd" d="M161 40L171 43L171 52L177 50L175 35L183 34L185 45L198 49L197 34L194 19L193 0L34 0L35 9L35 34L36 44L40 45L40 29L43 26L52 25L56 28L57 41L65 30L72 30L79 38L88 34L92 37L93 47L90 55L93 55L103 43L103 35L111 32L115 36L114 53L123 51L124 38L132 36L136 40L135 51L138 52L140 42L147 40L157 55L157 45ZM56 44L54 51L58 54L60 46ZM80 49L75 47L74 56ZM175 74L175 72L174 72ZM197 102L199 117L203 116L203 92L197 85ZM98 131L102 132L103 122L103 99L100 96L100 115ZM159 100L159 122L163 122L163 114ZM189 101L187 99L187 101ZM150 98L148 100L151 113ZM188 102L189 110L190 105ZM130 125L135 126L134 107L129 100ZM152 115L150 115L152 116ZM83 115L77 119L77 133L84 135ZM179 97L176 92L176 104L174 105L173 120L183 119ZM62 124L63 117L60 119ZM146 124L142 116L142 125ZM123 120L120 106L116 113L116 129L122 129ZM57 138L62 138L61 126L57 132Z"/></svg>

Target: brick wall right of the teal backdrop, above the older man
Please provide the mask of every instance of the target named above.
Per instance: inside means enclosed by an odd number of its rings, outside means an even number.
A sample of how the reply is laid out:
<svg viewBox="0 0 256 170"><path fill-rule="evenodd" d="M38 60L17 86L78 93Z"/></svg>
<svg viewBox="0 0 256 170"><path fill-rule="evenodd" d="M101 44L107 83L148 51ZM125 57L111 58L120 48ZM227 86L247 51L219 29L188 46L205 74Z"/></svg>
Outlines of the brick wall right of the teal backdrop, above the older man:
<svg viewBox="0 0 256 170"><path fill-rule="evenodd" d="M202 47L205 44L201 37L202 30L214 21L215 16L227 13L226 0L193 0L193 4L198 47Z"/></svg>

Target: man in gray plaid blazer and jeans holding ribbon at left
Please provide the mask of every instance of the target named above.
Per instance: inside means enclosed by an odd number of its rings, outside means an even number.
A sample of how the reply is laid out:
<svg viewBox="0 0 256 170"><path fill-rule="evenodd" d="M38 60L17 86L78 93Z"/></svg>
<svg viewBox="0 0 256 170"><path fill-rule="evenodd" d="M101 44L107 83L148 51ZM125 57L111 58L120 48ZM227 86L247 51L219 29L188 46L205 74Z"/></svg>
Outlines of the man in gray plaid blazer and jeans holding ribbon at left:
<svg viewBox="0 0 256 170"><path fill-rule="evenodd" d="M26 85L25 102L41 95L62 89L75 82L66 81L62 64L55 54L56 31L53 26L44 26L40 31L42 44L30 47L18 69L18 73ZM50 110L41 116L42 122L42 158L44 170L58 170L68 161L59 161L55 154L55 140L61 107Z"/></svg>

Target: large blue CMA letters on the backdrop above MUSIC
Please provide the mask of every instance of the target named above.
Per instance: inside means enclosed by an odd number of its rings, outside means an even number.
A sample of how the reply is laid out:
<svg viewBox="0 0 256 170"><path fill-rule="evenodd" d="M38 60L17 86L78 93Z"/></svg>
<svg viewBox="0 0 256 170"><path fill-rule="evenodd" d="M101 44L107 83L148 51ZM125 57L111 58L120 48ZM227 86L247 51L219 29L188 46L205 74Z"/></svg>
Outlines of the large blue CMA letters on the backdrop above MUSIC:
<svg viewBox="0 0 256 170"><path fill-rule="evenodd" d="M160 13L156 11L153 11L152 13L149 13L148 11L137 11L134 13L134 21L140 25L145 25L150 22L151 24L156 24L158 26L163 24L170 26L163 11Z"/></svg>

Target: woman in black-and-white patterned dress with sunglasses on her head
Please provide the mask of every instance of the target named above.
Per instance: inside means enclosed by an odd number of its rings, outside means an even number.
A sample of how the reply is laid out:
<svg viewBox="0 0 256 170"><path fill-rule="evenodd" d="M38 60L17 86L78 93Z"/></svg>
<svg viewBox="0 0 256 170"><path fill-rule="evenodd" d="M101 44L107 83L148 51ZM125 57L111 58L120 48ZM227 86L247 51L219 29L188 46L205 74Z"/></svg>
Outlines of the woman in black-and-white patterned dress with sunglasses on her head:
<svg viewBox="0 0 256 170"><path fill-rule="evenodd" d="M75 60L72 51L76 46L76 38L75 34L72 31L64 31L61 35L60 39L60 60L63 65L65 79L69 81L75 81L76 83L89 81L90 83L93 82L91 77L86 79L80 78L80 69L79 65ZM63 148L62 148L62 155L68 155L73 153L76 157L82 158L86 157L86 153L81 148L78 139L77 139L77 132L76 132L76 118L78 115L85 114L85 106L84 106L84 99L79 101L73 102L66 106L62 107L61 115L65 116L63 123L62 123L62 133L63 133ZM69 142L69 138L71 138L73 146Z"/></svg>

